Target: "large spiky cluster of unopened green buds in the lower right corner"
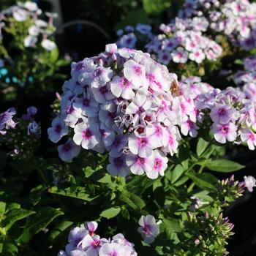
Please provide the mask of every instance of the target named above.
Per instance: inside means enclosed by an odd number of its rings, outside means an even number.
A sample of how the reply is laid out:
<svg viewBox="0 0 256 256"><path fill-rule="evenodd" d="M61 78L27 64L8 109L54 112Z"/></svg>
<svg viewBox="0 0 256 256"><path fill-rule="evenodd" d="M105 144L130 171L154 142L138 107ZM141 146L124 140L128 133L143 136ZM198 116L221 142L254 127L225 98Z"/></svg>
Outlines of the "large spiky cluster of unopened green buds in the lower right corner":
<svg viewBox="0 0 256 256"><path fill-rule="evenodd" d="M222 214L195 215L188 213L188 219L184 222L184 227L189 238L187 244L195 248L200 248L200 252L206 255L226 255L227 238L233 236L233 224ZM198 250L199 251L199 250Z"/></svg>

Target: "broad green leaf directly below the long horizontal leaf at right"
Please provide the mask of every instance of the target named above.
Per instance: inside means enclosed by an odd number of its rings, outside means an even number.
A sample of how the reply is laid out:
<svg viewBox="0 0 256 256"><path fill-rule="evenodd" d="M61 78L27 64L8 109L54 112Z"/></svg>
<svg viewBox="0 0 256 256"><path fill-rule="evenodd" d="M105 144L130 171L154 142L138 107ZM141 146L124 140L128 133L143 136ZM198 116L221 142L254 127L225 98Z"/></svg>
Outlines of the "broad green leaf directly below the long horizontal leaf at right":
<svg viewBox="0 0 256 256"><path fill-rule="evenodd" d="M211 173L186 173L186 176L192 179L195 182L197 187L201 189L211 189L216 190L215 184L217 184L217 178L215 178Z"/></svg>

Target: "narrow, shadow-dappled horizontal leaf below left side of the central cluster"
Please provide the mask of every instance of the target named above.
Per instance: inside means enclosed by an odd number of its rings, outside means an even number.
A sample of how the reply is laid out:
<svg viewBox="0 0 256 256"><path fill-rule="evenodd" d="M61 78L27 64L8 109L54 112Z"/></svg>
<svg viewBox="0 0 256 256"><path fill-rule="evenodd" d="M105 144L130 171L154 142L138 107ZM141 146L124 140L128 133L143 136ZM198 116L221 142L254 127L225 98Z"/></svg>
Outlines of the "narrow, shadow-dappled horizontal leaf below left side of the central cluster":
<svg viewBox="0 0 256 256"><path fill-rule="evenodd" d="M58 187L51 187L48 189L48 192L57 195L64 195L65 197L74 197L85 201L91 201L95 198L99 197L89 197L89 194L86 193L86 189L84 187L68 187L67 189L59 189Z"/></svg>

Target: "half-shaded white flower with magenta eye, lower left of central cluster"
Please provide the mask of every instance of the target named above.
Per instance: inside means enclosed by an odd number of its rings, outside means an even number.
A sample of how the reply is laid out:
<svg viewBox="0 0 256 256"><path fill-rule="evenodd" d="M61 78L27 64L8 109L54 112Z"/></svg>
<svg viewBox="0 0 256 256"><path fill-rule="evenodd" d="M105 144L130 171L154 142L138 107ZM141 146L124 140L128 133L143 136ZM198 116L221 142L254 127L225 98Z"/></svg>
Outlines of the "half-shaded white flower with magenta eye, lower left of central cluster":
<svg viewBox="0 0 256 256"><path fill-rule="evenodd" d="M94 148L101 139L99 126L94 122L77 124L74 132L74 142L86 149Z"/></svg>

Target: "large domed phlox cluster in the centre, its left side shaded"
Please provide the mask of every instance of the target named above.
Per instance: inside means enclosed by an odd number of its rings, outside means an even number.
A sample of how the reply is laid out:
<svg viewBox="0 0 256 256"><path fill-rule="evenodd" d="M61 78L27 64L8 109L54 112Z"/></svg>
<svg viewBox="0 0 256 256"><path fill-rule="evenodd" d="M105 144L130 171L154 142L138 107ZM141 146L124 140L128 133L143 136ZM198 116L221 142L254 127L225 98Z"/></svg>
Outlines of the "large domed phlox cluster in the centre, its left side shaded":
<svg viewBox="0 0 256 256"><path fill-rule="evenodd" d="M61 113L48 129L54 143L70 136L59 146L61 159L71 160L80 147L108 151L113 176L163 176L167 154L178 149L178 127L196 121L193 99L175 92L176 75L148 53L115 44L72 63L71 75L63 86Z"/></svg>

